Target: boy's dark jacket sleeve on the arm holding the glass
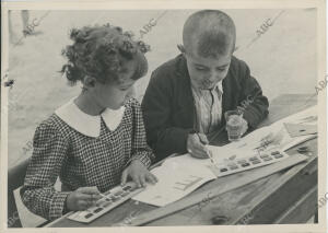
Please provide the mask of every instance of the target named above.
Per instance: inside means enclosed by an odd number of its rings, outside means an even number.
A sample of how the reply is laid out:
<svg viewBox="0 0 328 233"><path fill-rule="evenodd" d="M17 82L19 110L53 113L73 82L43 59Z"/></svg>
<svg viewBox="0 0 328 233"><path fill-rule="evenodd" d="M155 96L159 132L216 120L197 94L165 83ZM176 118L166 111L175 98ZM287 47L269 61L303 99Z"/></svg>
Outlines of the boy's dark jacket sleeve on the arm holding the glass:
<svg viewBox="0 0 328 233"><path fill-rule="evenodd" d="M269 102L262 95L262 90L255 78L250 75L248 66L243 62L242 98L239 106L244 105L244 118L249 129L255 129L269 114Z"/></svg>

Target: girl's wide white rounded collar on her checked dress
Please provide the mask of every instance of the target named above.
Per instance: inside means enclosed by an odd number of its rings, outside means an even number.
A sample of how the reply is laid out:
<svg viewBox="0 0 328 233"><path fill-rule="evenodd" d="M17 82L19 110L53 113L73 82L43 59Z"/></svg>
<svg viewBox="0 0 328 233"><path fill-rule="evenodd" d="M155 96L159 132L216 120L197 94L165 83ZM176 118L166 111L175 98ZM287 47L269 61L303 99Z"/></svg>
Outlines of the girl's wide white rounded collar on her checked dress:
<svg viewBox="0 0 328 233"><path fill-rule="evenodd" d="M72 98L56 109L55 114L77 131L96 138L101 135L101 117L103 117L107 128L114 131L124 117L125 106L117 110L106 108L101 115L91 116L82 112Z"/></svg>

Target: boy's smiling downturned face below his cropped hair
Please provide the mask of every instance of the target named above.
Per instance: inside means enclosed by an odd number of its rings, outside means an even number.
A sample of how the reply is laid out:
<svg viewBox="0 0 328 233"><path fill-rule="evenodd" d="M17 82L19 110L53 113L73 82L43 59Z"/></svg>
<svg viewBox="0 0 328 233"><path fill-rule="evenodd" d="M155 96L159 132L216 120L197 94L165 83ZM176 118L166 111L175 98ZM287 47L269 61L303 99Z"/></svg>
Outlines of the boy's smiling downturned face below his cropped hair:
<svg viewBox="0 0 328 233"><path fill-rule="evenodd" d="M196 50L196 49L194 49ZM201 57L196 51L185 53L191 85L200 90L213 89L222 81L230 67L232 54Z"/></svg>

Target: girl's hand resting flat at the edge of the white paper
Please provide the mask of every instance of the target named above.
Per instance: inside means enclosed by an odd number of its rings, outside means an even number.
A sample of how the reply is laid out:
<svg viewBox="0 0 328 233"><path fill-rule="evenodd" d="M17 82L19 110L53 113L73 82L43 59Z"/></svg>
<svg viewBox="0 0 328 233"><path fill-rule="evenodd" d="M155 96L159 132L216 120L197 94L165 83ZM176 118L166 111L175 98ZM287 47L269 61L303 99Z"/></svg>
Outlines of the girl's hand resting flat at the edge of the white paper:
<svg viewBox="0 0 328 233"><path fill-rule="evenodd" d="M131 164L122 172L121 185L126 184L128 177L132 178L139 188L145 187L145 182L150 182L152 184L157 182L156 176L151 174L139 160L132 160Z"/></svg>

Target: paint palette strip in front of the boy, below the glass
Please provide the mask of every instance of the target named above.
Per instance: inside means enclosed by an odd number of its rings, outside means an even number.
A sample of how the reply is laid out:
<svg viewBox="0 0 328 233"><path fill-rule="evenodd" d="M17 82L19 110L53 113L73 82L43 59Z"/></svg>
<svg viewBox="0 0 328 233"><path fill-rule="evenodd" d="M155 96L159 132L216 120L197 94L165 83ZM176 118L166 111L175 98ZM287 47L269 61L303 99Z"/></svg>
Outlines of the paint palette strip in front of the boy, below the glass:
<svg viewBox="0 0 328 233"><path fill-rule="evenodd" d="M226 163L216 165L211 164L209 165L209 167L218 177L222 177L238 172L244 172L246 170L253 170L256 167L276 163L286 158L289 158L289 155L285 152L273 150L262 152L260 154L254 154L248 158L236 159Z"/></svg>

